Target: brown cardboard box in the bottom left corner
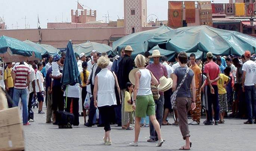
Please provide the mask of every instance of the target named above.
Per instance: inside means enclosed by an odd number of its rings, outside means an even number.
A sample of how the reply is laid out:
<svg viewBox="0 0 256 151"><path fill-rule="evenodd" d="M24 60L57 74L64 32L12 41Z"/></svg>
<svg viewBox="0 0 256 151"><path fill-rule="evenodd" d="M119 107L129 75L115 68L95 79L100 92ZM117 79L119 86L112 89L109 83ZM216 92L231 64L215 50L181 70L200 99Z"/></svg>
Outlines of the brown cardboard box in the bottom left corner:
<svg viewBox="0 0 256 151"><path fill-rule="evenodd" d="M0 111L0 151L24 150L23 123L19 108Z"/></svg>

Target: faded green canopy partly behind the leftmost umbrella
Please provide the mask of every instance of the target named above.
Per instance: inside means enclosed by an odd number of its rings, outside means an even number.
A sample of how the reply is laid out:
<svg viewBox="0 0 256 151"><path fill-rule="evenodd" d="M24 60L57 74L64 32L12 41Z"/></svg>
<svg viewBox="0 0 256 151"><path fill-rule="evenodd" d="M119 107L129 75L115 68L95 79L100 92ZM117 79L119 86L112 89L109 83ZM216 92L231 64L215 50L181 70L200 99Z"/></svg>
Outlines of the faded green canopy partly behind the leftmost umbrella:
<svg viewBox="0 0 256 151"><path fill-rule="evenodd" d="M49 57L54 56L54 54L57 54L59 50L57 48L54 48L51 45L47 44L37 44L29 40L25 40L24 43L30 45L31 47L35 48L38 52L41 53L42 57Z"/></svg>

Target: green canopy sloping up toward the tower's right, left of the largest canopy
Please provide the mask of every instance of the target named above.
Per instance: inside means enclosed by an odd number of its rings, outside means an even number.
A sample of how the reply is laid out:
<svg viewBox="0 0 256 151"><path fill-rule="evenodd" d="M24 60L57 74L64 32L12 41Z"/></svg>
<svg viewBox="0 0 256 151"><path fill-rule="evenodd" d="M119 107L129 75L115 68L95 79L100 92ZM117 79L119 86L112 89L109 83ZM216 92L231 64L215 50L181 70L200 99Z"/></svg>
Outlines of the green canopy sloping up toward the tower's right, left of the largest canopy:
<svg viewBox="0 0 256 151"><path fill-rule="evenodd" d="M122 47L130 45L134 50L134 52L132 52L132 58L135 58L137 54L143 54L144 52L146 52L147 40L157 37L158 35L164 34L171 30L172 28L169 28L167 26L161 26L156 29L135 32L133 34L127 35L113 42L113 53L114 55L116 55L117 52L120 52Z"/></svg>

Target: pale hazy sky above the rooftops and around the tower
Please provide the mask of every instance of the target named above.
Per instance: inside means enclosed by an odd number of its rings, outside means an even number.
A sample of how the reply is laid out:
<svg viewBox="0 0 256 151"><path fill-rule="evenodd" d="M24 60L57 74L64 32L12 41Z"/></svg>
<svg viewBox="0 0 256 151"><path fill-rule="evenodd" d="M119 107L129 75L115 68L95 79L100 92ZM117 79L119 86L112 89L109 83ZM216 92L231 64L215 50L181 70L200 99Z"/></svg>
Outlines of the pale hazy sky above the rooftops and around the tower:
<svg viewBox="0 0 256 151"><path fill-rule="evenodd" d="M228 0L213 1L228 3ZM97 21L105 21L103 16L107 12L112 21L116 21L118 16L124 18L124 0L79 0L79 3L84 5L84 9L88 6L97 10ZM24 29L25 16L27 28L37 28L37 15L42 28L47 28L47 22L71 22L71 9L76 8L77 0L0 0L0 16L4 17L8 29L17 29L17 23L18 29ZM159 20L167 20L167 12L168 0L147 0L148 15L153 13ZM155 19L153 16L150 18Z"/></svg>

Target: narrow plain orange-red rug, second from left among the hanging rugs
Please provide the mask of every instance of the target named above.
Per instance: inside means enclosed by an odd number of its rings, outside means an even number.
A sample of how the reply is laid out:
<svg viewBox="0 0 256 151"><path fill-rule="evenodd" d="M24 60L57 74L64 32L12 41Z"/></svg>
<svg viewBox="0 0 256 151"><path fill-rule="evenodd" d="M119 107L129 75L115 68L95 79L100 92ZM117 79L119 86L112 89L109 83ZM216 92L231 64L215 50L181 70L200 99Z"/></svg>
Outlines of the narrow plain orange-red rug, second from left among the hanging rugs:
<svg viewBox="0 0 256 151"><path fill-rule="evenodd" d="M196 22L195 2L185 1L185 11L186 11L186 22L195 23Z"/></svg>

